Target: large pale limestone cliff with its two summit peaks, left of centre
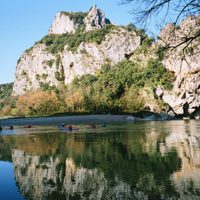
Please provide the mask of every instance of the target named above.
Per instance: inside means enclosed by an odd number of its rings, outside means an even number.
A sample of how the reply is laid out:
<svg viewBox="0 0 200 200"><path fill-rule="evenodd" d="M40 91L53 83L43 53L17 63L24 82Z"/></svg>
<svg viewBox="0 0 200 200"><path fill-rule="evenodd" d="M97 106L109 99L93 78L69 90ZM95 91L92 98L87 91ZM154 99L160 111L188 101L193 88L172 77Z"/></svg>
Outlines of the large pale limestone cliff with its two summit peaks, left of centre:
<svg viewBox="0 0 200 200"><path fill-rule="evenodd" d="M66 37L69 39L79 29L92 34L105 30L107 24L110 24L109 20L96 6L87 14L61 12L55 17L49 37L69 34ZM22 95L44 84L58 86L61 81L70 83L76 76L94 74L105 63L123 60L140 46L140 42L141 38L135 32L112 26L102 41L83 41L75 51L69 50L66 44L63 51L52 53L48 51L48 41L46 44L37 43L18 61L13 95Z"/></svg>

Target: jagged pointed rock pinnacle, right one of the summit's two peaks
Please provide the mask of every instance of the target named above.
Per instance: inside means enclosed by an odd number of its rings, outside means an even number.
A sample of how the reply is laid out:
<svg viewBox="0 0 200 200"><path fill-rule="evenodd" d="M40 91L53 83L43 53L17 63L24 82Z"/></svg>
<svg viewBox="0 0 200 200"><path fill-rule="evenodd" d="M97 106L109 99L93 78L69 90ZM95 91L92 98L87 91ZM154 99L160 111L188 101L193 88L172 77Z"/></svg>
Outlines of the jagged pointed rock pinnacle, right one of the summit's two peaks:
<svg viewBox="0 0 200 200"><path fill-rule="evenodd" d="M94 5L85 18L85 24L86 31L90 31L95 28L103 28L106 24L110 24L110 21L106 18L105 13Z"/></svg>

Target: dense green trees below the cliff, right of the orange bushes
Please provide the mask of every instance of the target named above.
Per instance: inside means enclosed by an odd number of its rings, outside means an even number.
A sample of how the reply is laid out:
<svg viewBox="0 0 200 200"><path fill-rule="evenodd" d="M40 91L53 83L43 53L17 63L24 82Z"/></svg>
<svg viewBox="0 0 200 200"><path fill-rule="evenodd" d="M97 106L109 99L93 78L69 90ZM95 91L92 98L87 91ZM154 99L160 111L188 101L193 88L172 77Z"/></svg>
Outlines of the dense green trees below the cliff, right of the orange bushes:
<svg viewBox="0 0 200 200"><path fill-rule="evenodd" d="M94 75L83 75L73 81L82 89L83 107L90 112L127 111L144 109L144 88L160 86L170 90L173 75L158 60L149 60L146 68L124 60L115 66L104 65Z"/></svg>

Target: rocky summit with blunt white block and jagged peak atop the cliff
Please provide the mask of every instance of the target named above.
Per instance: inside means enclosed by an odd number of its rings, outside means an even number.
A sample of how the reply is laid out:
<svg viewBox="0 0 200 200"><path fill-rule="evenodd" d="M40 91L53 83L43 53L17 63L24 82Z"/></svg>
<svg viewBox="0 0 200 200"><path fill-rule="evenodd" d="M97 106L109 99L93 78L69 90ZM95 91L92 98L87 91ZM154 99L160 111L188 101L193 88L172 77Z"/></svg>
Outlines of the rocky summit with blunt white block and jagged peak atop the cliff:
<svg viewBox="0 0 200 200"><path fill-rule="evenodd" d="M90 31L103 28L106 24L110 24L110 21L105 17L105 13L94 5L87 13L57 13L49 34L74 33L80 25L85 25L85 31Z"/></svg>

